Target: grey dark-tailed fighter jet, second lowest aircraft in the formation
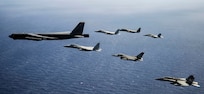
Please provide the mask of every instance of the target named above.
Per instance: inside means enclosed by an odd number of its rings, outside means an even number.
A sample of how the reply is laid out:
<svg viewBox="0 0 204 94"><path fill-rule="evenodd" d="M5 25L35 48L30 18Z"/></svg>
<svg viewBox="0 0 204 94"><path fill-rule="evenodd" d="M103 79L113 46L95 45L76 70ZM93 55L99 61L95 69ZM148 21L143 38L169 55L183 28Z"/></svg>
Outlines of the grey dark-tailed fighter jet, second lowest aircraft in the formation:
<svg viewBox="0 0 204 94"><path fill-rule="evenodd" d="M129 56L123 53L119 53L119 54L114 54L113 56L115 57L120 57L120 59L123 60L130 60L130 61L143 61L142 56L144 55L144 52L141 52L139 55L137 56Z"/></svg>

